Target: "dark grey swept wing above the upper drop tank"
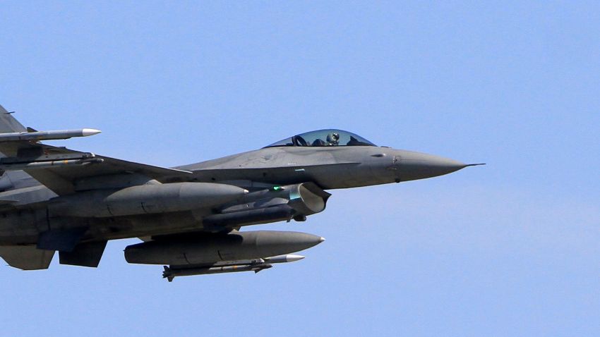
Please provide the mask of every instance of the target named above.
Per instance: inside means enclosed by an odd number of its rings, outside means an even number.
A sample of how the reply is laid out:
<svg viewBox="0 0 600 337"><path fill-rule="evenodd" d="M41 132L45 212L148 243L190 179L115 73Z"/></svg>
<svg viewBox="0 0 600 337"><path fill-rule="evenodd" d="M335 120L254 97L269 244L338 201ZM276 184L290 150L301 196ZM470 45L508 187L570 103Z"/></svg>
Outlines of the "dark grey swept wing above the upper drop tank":
<svg viewBox="0 0 600 337"><path fill-rule="evenodd" d="M0 136L8 133L36 132L21 125L11 113L0 106ZM188 180L189 171L167 169L132 161L97 156L66 147L44 145L37 140L3 141L0 137L0 169L22 169L57 195L75 191L77 180L97 176L138 173L161 182Z"/></svg>

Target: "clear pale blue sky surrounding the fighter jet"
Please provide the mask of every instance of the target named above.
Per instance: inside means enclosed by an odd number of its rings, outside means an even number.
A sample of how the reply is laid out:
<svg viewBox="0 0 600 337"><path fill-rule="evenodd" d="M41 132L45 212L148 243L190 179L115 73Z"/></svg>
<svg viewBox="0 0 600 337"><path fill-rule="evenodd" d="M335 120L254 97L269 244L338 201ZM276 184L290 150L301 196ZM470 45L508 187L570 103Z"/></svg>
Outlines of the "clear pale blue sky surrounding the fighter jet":
<svg viewBox="0 0 600 337"><path fill-rule="evenodd" d="M418 2L418 4L417 4ZM319 128L488 166L334 190L260 274L0 267L1 336L599 336L597 1L10 1L0 104L175 166Z"/></svg>

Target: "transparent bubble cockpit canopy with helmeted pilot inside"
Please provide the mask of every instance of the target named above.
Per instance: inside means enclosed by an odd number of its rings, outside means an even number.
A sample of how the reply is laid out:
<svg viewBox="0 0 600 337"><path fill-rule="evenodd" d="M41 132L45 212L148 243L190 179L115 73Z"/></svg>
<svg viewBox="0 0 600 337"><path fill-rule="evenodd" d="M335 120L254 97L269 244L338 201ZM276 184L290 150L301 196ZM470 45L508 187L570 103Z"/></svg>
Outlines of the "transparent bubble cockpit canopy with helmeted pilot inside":
<svg viewBox="0 0 600 337"><path fill-rule="evenodd" d="M301 146L301 147L325 147L325 146L377 146L372 142L354 133L344 130L324 129L308 133L301 133L268 147Z"/></svg>

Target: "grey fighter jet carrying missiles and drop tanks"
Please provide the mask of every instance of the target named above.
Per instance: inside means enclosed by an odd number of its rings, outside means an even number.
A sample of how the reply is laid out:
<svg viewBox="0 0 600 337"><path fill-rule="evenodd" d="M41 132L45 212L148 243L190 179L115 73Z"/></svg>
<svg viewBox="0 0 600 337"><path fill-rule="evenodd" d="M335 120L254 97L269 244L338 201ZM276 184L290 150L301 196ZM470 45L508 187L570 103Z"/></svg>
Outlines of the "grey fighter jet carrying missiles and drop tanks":
<svg viewBox="0 0 600 337"><path fill-rule="evenodd" d="M330 193L431 178L467 166L379 147L344 130L294 135L262 149L174 168L43 144L100 130L37 131L0 106L0 257L10 266L96 267L108 240L133 264L164 265L163 277L258 272L303 257L319 235L245 231L323 212Z"/></svg>

